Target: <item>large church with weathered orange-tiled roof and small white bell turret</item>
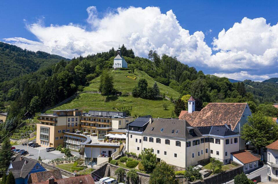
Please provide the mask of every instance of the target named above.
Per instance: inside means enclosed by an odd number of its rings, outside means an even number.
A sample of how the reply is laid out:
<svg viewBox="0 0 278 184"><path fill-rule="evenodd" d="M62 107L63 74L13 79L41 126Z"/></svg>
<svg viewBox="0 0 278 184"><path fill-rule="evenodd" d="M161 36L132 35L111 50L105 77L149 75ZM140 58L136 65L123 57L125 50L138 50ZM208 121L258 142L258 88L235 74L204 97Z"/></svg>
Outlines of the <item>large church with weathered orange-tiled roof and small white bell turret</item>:
<svg viewBox="0 0 278 184"><path fill-rule="evenodd" d="M231 130L240 135L242 126L252 115L247 103L209 103L201 111L195 111L195 100L188 100L188 111L179 119L186 120L191 126L230 125ZM239 139L240 149L246 149L246 141Z"/></svg>

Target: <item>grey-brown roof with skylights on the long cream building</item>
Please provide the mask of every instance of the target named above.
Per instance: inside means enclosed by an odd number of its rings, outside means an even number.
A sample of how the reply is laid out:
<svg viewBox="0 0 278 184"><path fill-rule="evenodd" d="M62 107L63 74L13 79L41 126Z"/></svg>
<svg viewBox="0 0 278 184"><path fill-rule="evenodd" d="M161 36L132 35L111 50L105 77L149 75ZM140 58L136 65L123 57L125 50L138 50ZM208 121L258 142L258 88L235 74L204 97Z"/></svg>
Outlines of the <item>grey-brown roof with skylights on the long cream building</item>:
<svg viewBox="0 0 278 184"><path fill-rule="evenodd" d="M194 133L189 134L189 127L190 124L185 120L155 118L153 119L152 124L148 124L143 134L176 137L181 139L191 139L193 137L202 136L197 127L194 127ZM161 128L164 128L162 132ZM173 133L172 130L174 130ZM178 133L177 130L179 130Z"/></svg>

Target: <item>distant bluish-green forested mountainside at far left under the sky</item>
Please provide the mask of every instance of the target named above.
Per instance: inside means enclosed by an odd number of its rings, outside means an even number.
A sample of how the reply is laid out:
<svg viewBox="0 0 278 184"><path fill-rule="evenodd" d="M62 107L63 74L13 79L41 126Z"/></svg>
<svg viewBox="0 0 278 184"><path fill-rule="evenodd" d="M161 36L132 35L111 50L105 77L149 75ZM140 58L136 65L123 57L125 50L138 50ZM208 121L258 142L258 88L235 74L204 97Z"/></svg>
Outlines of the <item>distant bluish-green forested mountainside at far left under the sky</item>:
<svg viewBox="0 0 278 184"><path fill-rule="evenodd" d="M0 42L0 82L37 71L61 59L66 58L41 51L23 50L15 45Z"/></svg>

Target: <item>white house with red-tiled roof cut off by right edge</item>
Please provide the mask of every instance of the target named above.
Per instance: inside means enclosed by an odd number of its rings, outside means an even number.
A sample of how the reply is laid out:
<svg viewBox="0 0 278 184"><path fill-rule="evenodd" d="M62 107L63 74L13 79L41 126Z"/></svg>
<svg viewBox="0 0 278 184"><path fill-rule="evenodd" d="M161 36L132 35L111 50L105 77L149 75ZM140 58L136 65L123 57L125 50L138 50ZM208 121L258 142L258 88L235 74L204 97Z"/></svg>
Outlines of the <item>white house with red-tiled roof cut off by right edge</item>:
<svg viewBox="0 0 278 184"><path fill-rule="evenodd" d="M268 181L278 182L278 140L266 146Z"/></svg>

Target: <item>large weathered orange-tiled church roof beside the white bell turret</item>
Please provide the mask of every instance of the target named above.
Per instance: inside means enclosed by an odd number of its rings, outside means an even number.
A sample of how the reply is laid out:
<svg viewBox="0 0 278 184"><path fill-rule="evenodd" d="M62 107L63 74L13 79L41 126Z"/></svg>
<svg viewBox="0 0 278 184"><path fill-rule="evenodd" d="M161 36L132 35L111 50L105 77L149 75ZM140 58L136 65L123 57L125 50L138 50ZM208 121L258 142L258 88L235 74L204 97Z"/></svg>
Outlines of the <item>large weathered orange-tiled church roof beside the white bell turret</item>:
<svg viewBox="0 0 278 184"><path fill-rule="evenodd" d="M185 113L179 119L185 119L191 126L231 125L235 129L247 103L209 103L201 111Z"/></svg>

